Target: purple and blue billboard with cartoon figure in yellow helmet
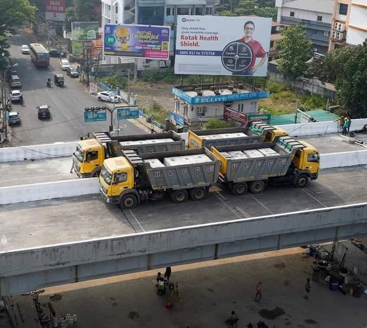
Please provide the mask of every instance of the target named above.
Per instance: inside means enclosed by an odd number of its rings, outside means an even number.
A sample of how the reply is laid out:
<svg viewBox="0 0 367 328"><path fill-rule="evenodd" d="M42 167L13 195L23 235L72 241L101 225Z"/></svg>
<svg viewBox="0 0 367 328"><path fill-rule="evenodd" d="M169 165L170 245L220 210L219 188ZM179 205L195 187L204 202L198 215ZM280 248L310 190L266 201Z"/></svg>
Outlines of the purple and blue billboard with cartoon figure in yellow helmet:
<svg viewBox="0 0 367 328"><path fill-rule="evenodd" d="M106 24L103 56L168 60L169 26Z"/></svg>

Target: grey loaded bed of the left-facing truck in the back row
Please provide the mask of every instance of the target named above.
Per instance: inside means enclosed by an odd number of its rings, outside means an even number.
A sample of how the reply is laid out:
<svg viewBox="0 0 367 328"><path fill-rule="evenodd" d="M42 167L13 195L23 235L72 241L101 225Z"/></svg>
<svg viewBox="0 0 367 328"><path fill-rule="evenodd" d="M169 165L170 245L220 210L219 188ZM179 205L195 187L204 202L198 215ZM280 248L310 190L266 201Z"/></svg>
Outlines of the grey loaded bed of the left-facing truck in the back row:
<svg viewBox="0 0 367 328"><path fill-rule="evenodd" d="M121 136L109 136L108 132L95 132L94 137L116 155L121 155L120 151L123 149L135 149L138 154L185 149L185 139L174 131Z"/></svg>

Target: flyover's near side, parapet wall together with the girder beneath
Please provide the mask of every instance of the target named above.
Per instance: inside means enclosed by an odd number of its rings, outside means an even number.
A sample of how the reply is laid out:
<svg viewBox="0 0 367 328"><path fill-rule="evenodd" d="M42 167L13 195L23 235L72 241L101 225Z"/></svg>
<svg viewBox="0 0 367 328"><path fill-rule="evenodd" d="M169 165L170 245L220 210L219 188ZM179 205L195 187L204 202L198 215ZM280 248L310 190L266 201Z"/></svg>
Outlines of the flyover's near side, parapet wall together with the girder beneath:
<svg viewBox="0 0 367 328"><path fill-rule="evenodd" d="M0 252L0 296L367 234L367 203Z"/></svg>

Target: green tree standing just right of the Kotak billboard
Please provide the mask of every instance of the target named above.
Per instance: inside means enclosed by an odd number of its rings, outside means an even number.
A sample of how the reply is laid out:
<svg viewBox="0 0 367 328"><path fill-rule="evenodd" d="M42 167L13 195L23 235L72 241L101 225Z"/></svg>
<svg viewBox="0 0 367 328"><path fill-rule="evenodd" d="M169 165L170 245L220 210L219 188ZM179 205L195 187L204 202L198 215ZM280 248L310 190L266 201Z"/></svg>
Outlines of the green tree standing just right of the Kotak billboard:
<svg viewBox="0 0 367 328"><path fill-rule="evenodd" d="M307 39L301 24L287 26L281 35L283 39L277 42L278 69L284 77L295 81L307 69L312 42Z"/></svg>

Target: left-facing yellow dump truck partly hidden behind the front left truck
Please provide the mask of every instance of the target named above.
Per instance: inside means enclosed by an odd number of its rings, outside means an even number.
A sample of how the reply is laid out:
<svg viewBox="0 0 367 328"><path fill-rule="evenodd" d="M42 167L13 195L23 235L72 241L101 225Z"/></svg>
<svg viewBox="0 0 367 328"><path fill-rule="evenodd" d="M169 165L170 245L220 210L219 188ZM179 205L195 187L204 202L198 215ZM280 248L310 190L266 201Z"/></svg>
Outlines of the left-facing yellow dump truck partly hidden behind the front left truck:
<svg viewBox="0 0 367 328"><path fill-rule="evenodd" d="M73 171L80 178L97 177L104 159L121 156L123 149L135 149L139 154L181 150L185 149L185 139L174 131L120 136L94 132L93 138L77 143Z"/></svg>

